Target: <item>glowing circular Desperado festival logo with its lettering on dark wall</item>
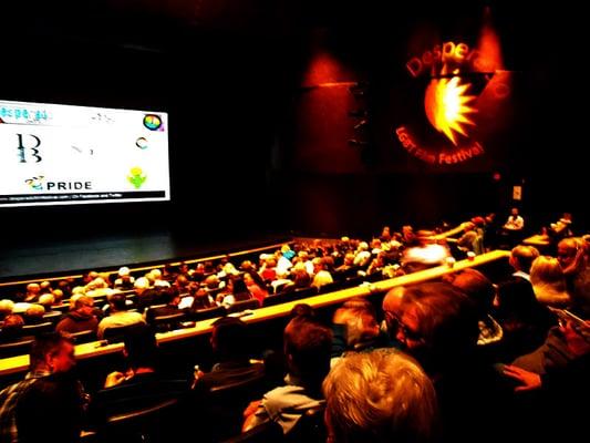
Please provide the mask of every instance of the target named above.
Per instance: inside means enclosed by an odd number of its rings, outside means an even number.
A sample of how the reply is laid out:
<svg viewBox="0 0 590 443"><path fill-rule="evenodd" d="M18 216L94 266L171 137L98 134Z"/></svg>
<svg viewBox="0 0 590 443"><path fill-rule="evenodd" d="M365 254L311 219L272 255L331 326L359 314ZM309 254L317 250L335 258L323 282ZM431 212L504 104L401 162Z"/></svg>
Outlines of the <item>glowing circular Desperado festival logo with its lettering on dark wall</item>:
<svg viewBox="0 0 590 443"><path fill-rule="evenodd" d="M496 63L466 43L445 42L410 59L405 68L412 80L426 80L425 91L417 87L424 94L426 119L423 114L395 127L394 137L404 150L431 164L456 164L483 155L478 115L509 94L509 86L498 81Z"/></svg>

